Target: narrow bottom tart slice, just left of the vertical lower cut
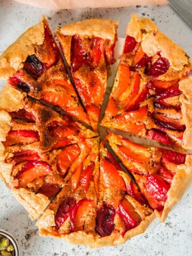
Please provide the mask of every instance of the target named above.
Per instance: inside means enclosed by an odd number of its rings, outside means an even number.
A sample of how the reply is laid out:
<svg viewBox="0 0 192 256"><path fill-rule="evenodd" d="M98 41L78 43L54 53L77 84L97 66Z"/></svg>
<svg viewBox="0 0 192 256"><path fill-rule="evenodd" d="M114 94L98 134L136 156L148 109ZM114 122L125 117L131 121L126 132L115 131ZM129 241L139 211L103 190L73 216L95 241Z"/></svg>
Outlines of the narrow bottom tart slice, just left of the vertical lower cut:
<svg viewBox="0 0 192 256"><path fill-rule="evenodd" d="M69 146L70 147L70 146ZM94 246L95 218L98 201L98 140L78 144L79 156L71 161L66 186L37 221L39 234L60 237L75 244ZM73 152L68 151L69 155ZM66 159L66 154L61 159ZM69 163L63 161L62 168Z"/></svg>

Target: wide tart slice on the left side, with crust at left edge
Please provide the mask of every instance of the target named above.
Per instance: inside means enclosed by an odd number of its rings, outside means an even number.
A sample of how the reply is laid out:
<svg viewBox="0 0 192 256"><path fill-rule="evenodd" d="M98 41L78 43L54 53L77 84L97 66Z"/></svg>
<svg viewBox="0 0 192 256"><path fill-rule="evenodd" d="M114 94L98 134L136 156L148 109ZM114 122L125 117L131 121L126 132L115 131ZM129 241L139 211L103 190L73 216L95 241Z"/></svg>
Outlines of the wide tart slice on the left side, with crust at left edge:
<svg viewBox="0 0 192 256"><path fill-rule="evenodd" d="M97 134L10 85L0 99L0 177L35 219L65 185L71 161L91 150Z"/></svg>

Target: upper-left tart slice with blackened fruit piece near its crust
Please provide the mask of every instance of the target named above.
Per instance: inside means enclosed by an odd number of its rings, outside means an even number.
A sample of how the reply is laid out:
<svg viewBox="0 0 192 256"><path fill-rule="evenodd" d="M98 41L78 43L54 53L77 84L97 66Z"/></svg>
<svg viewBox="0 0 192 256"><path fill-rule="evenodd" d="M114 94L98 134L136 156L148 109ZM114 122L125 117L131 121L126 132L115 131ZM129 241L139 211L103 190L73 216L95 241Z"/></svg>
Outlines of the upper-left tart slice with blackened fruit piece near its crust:
<svg viewBox="0 0 192 256"><path fill-rule="evenodd" d="M29 96L89 124L46 19L29 28L0 57L0 78Z"/></svg>

